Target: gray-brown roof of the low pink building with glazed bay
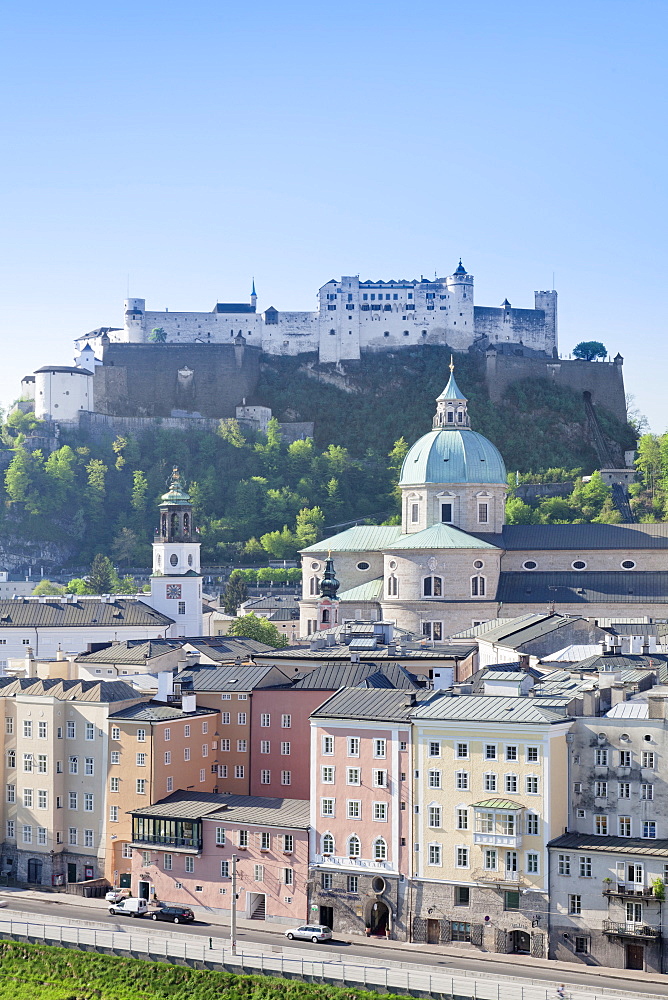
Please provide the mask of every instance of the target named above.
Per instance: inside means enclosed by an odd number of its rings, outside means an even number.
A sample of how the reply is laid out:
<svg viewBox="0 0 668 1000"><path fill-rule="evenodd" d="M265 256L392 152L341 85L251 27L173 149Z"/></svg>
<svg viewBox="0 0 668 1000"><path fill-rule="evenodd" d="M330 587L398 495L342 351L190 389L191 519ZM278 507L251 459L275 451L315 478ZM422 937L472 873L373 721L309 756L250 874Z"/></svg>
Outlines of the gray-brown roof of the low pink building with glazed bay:
<svg viewBox="0 0 668 1000"><path fill-rule="evenodd" d="M165 816L170 819L212 819L218 822L247 823L249 826L280 826L307 830L308 800L271 799L259 795L219 795L213 792L175 792L133 816Z"/></svg>

